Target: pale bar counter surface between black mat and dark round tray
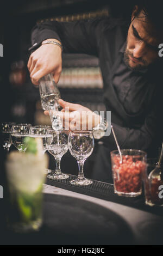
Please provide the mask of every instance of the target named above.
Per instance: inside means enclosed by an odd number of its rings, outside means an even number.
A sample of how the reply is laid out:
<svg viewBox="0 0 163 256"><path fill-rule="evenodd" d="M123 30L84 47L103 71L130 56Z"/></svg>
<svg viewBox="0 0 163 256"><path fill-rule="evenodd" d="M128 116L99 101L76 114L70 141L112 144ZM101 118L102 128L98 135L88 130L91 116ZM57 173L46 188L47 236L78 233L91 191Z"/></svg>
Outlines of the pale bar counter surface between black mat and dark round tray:
<svg viewBox="0 0 163 256"><path fill-rule="evenodd" d="M86 200L87 202L102 206L105 209L114 211L115 214L123 218L129 225L133 234L131 244L135 245L155 245L163 244L161 231L163 229L163 215L153 214L151 212L135 209L120 203L109 202L108 200L87 196L85 194L68 191L59 187L44 185L43 192L46 194L61 195L75 199ZM149 206L150 207L150 206ZM160 209L162 210L162 209ZM95 223L96 225L96 223ZM125 236L125 234L124 234ZM109 243L109 241L108 241Z"/></svg>

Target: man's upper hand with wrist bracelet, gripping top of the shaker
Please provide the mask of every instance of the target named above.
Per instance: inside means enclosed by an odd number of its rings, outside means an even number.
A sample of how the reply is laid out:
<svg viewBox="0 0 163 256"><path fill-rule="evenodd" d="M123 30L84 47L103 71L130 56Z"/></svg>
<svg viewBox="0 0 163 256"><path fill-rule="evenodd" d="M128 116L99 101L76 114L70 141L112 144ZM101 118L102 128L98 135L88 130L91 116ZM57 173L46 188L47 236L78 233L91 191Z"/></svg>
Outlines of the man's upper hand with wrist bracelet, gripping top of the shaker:
<svg viewBox="0 0 163 256"><path fill-rule="evenodd" d="M55 83L58 83L62 70L61 48L54 44L41 45L30 55L27 66L33 84L38 85L39 79L49 73L53 73Z"/></svg>

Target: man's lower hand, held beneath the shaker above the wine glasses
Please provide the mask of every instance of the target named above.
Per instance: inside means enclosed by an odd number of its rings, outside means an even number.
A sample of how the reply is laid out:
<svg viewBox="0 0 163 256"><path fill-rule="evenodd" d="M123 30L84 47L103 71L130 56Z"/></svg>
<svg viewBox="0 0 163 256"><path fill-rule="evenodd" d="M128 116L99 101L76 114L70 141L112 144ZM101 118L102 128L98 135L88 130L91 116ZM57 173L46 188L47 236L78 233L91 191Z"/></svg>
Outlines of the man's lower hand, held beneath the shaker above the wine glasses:
<svg viewBox="0 0 163 256"><path fill-rule="evenodd" d="M100 122L98 114L92 112L89 108L79 104L73 104L64 100L58 101L63 108L60 114L64 127L68 130L92 130ZM48 111L44 112L46 115Z"/></svg>

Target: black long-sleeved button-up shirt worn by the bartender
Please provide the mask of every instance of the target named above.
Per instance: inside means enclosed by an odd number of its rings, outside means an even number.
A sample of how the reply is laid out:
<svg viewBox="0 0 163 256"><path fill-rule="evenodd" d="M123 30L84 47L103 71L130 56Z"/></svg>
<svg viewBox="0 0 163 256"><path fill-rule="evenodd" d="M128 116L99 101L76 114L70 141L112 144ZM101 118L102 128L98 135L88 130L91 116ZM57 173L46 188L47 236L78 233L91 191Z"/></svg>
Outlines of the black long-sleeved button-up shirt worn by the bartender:
<svg viewBox="0 0 163 256"><path fill-rule="evenodd" d="M129 23L122 19L95 19L77 22L46 21L32 31L35 50L43 40L61 41L66 53L86 53L99 58L104 83L104 101L111 111L121 148L141 149L156 155L162 142L162 80L160 65L145 71L131 70L123 60ZM112 134L102 141L116 149Z"/></svg>

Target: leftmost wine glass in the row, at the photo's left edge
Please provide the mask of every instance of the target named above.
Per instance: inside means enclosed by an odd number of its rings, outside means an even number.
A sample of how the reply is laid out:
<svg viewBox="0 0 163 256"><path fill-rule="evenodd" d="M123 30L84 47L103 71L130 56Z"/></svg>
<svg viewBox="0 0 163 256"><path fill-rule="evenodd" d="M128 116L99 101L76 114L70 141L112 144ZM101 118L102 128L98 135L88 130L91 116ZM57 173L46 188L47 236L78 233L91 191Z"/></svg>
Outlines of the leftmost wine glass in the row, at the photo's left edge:
<svg viewBox="0 0 163 256"><path fill-rule="evenodd" d="M11 129L12 125L15 123L9 122L9 123L2 123L1 124L1 137L2 137L2 144L3 148L7 151L9 151L11 144L12 144L12 139L11 139Z"/></svg>

